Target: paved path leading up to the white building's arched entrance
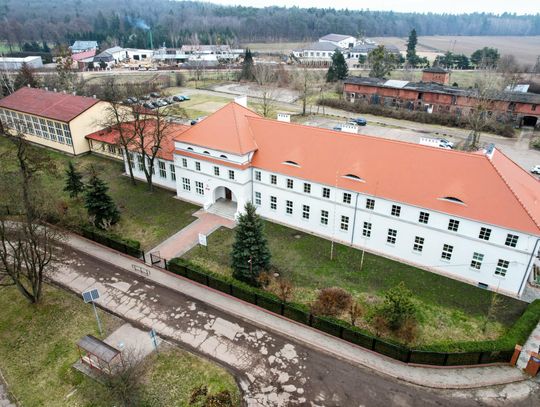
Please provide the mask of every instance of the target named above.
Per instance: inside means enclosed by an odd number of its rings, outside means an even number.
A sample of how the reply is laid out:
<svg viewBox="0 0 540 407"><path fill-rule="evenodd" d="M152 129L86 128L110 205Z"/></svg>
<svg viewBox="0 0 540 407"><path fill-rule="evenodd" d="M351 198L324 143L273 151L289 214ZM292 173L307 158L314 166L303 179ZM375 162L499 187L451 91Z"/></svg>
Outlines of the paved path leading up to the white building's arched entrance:
<svg viewBox="0 0 540 407"><path fill-rule="evenodd" d="M221 226L234 227L234 221L222 218L221 216L208 213L199 209L193 214L198 219L190 223L184 229L161 242L150 250L150 253L159 252L159 256L164 259L172 259L181 256L199 243L199 233L209 235Z"/></svg>

